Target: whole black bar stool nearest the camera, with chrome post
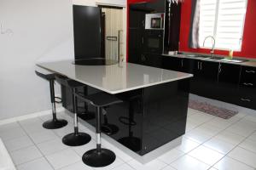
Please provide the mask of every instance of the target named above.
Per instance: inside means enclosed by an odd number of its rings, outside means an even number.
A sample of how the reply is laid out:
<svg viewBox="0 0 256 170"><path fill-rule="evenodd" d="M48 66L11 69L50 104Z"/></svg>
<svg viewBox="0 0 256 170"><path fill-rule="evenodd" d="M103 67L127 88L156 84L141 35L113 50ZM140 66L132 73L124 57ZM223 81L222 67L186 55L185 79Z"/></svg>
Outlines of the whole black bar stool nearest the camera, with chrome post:
<svg viewBox="0 0 256 170"><path fill-rule="evenodd" d="M106 94L104 92L90 94L87 96L81 96L75 94L79 99L88 102L90 105L96 107L96 149L89 150L84 153L83 161L86 165L90 167L106 167L113 163L115 160L115 154L113 151L102 148L101 141L101 115L102 108L114 104L119 104L123 102L120 99L117 99L114 95Z"/></svg>

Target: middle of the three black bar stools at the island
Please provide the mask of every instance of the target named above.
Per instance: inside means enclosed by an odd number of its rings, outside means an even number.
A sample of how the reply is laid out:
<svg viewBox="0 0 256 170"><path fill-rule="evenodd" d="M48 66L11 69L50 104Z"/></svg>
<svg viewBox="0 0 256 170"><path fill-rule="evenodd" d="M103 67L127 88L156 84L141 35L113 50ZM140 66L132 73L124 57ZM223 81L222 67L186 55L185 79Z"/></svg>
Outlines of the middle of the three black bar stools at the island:
<svg viewBox="0 0 256 170"><path fill-rule="evenodd" d="M69 133L62 138L62 143L68 146L80 146L90 142L90 135L87 133L79 132L79 121L78 121L78 99L75 95L77 88L84 87L84 84L68 79L67 77L56 76L56 81L72 89L73 95L73 113L74 113L74 133Z"/></svg>

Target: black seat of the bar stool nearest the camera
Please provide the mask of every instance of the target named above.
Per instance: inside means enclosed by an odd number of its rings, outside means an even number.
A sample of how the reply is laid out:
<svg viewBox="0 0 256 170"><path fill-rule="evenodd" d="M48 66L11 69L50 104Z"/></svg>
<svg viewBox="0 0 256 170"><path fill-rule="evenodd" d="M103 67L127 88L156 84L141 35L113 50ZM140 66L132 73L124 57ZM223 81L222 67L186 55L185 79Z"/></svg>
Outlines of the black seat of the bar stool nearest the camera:
<svg viewBox="0 0 256 170"><path fill-rule="evenodd" d="M119 104L123 102L121 99L118 99L113 94L107 94L104 92L90 94L87 96L84 96L82 94L76 94L76 96L79 99L82 99L85 102L90 103L91 105L94 105L96 107L105 107L108 105L114 105L114 104Z"/></svg>

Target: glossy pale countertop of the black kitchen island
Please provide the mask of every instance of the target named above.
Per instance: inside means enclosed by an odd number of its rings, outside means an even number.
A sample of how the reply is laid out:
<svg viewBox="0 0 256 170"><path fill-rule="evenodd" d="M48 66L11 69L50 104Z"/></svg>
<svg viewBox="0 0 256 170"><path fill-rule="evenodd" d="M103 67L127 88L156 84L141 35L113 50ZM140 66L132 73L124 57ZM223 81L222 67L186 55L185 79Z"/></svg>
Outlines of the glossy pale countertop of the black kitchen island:
<svg viewBox="0 0 256 170"><path fill-rule="evenodd" d="M137 88L147 88L193 77L183 72L131 63L116 65L73 65L72 63L72 60L63 60L37 65L108 94L119 94Z"/></svg>

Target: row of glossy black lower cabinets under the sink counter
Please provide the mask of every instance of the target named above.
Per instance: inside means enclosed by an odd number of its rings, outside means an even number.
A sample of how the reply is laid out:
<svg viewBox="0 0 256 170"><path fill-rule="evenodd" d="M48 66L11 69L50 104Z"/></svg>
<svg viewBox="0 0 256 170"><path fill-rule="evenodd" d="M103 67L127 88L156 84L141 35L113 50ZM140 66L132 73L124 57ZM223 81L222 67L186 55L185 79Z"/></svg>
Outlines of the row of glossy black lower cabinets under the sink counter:
<svg viewBox="0 0 256 170"><path fill-rule="evenodd" d="M142 54L136 63L191 73L191 94L256 110L255 67L158 54Z"/></svg>

